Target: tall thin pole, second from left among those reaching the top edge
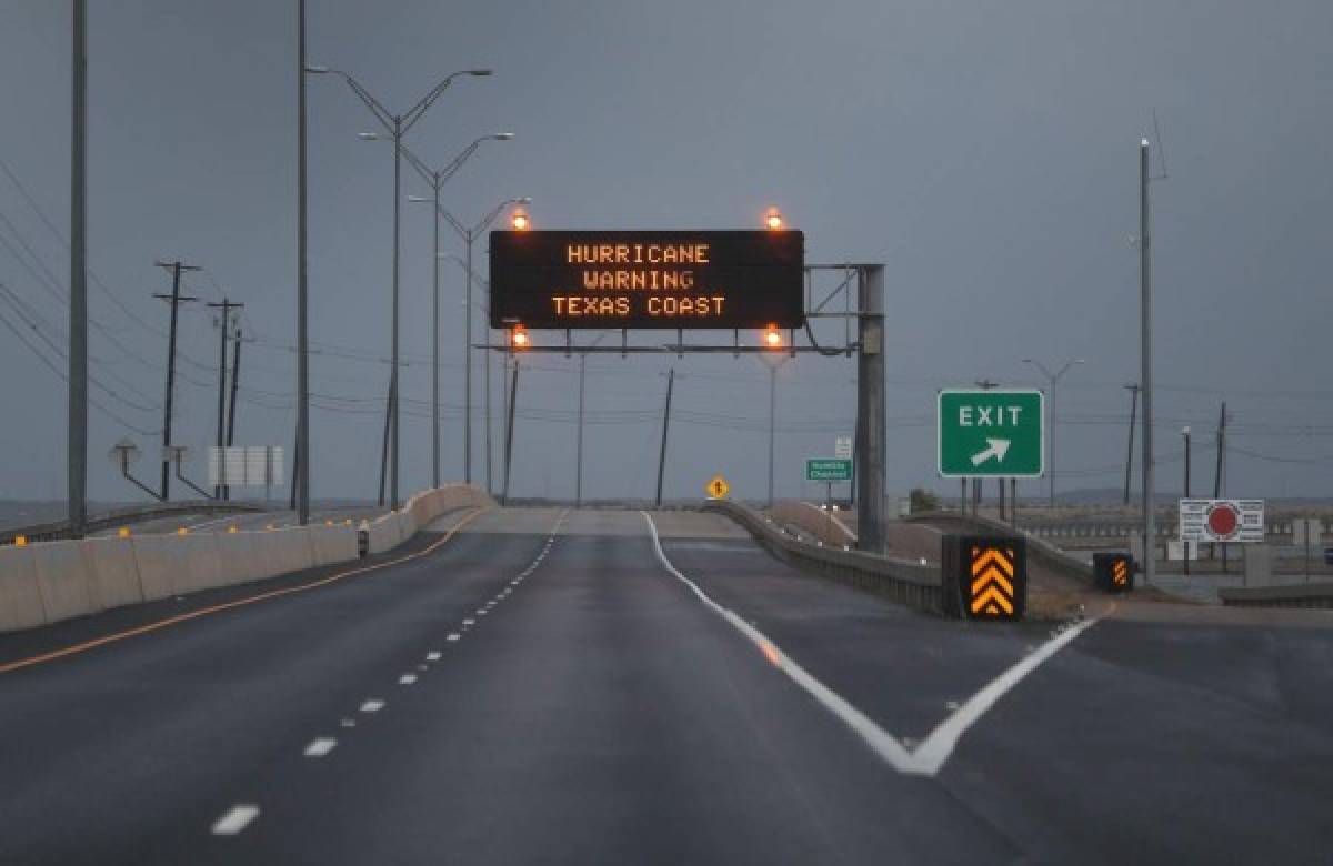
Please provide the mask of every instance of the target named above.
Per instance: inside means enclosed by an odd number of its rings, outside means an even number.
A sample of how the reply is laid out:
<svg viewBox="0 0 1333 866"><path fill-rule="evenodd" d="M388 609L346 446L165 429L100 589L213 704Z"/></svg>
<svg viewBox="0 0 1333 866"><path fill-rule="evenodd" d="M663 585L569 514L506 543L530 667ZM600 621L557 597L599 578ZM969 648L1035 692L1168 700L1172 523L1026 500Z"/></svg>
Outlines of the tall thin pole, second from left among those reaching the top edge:
<svg viewBox="0 0 1333 866"><path fill-rule="evenodd" d="M301 456L311 450L311 360L308 304L309 285L305 266L305 0L296 0L296 454L293 458L292 497L296 521L311 522L311 461ZM237 341L237 354L240 342Z"/></svg>

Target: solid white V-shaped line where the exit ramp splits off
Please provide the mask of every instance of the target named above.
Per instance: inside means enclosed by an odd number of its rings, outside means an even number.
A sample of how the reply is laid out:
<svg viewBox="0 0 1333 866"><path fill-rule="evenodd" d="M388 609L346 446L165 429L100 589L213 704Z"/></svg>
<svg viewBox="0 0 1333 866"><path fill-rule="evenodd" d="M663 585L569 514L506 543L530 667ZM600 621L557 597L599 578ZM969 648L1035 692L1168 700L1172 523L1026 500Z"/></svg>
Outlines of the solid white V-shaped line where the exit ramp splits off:
<svg viewBox="0 0 1333 866"><path fill-rule="evenodd" d="M818 701L824 709L841 719L842 723L860 735L876 754L884 758L884 761L898 773L910 773L913 775L934 775L938 773L940 767L944 766L944 762L949 759L950 754L953 754L953 747L957 745L958 738L962 737L968 727L976 723L976 721L981 718L986 710L994 706L996 701L1018 685L1024 677L1036 670L1041 662L1058 653L1070 641L1097 624L1097 620L1085 620L1078 625L1073 625L1060 632L1056 637L1042 644L1036 651L1025 655L1017 665L992 679L984 689L981 689L981 691L977 691L974 695L968 698L962 706L957 709L957 711L940 722L940 725L930 731L929 737L921 741L920 745L910 743L914 747L909 749L910 741L896 739L892 734L876 725L868 715L865 715L865 713L848 703L840 694L812 677L804 667L778 650L762 632L741 620L733 612L718 605L716 601L709 598L708 594L694 584L694 581L676 570L676 566L670 564L670 560L666 558L666 553L663 550L661 540L657 537L657 526L653 524L653 518L648 516L648 512L640 512L640 514L643 514L644 520L648 521L648 532L652 534L653 550L657 553L657 560L661 562L663 568L689 586L701 602L730 622L737 632L748 637L764 653L764 655L768 657L769 662L790 677L796 685L805 689L805 691Z"/></svg>

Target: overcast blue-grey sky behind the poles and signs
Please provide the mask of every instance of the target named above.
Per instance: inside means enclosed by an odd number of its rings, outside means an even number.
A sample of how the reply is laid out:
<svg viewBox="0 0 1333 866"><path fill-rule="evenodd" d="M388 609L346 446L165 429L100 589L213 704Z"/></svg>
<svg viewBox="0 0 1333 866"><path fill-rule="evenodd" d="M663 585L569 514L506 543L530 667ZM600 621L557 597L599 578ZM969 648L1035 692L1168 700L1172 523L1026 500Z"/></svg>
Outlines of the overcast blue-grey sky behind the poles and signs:
<svg viewBox="0 0 1333 866"><path fill-rule="evenodd" d="M65 484L64 382L37 353L63 368L68 253L45 220L68 232L69 5L0 0L0 318L32 344L0 329L7 498L60 498ZM1169 169L1153 189L1160 485L1178 489L1185 424L1210 485L1226 400L1228 493L1329 492L1326 0L308 5L311 63L347 69L389 105L448 72L495 68L457 81L409 137L441 164L480 135L517 133L445 188L465 221L523 195L539 228L758 228L776 204L805 230L809 260L885 262L890 492L952 492L933 477L934 390L1040 384L1028 356L1086 358L1058 392L1060 486L1121 484L1122 385L1138 376L1137 143L1156 108ZM123 436L157 452L167 306L151 294L169 285L156 258L203 265L189 281L201 300L247 305L257 342L243 353L237 440L292 444L295 0L89 7L93 396L116 416L92 410L89 492L133 498L104 454ZM371 117L333 77L311 80L309 116L312 338L327 350L312 372L324 394L313 493L369 497L388 377L391 151L357 140ZM427 188L409 177L405 192ZM429 481L429 209L408 205L404 218L411 492ZM457 478L463 278L445 268L444 469ZM183 313L180 345L176 440L201 476L217 357L201 305ZM577 361L531 365L513 489L571 496ZM736 494L762 497L768 372L730 356L595 356L585 494L651 496L668 365L680 414L666 496L698 496L721 472ZM818 493L801 461L850 433L852 382L846 358L781 369L780 496Z"/></svg>

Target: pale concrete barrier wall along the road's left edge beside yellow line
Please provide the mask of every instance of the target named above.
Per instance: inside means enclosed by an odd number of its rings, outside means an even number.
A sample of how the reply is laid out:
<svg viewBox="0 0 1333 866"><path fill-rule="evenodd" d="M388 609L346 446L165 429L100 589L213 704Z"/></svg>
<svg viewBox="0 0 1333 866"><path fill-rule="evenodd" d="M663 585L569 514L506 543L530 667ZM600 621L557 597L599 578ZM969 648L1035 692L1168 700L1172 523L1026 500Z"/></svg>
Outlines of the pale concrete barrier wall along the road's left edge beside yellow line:
<svg viewBox="0 0 1333 866"><path fill-rule="evenodd" d="M371 525L371 552L399 546L449 510L481 505L495 502L463 484L419 493ZM3 546L0 632L357 557L357 529L345 525Z"/></svg>

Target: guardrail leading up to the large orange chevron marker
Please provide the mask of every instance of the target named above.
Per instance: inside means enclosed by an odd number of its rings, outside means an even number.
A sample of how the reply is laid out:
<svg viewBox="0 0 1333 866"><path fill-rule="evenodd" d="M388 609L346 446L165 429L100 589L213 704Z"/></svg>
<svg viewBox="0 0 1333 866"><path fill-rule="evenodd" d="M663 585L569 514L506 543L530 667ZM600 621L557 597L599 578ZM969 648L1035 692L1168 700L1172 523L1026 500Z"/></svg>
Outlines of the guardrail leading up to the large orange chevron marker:
<svg viewBox="0 0 1333 866"><path fill-rule="evenodd" d="M942 614L940 569L934 566L858 550L810 545L788 536L760 513L728 500L706 502L702 510L718 512L732 518L784 562L917 610Z"/></svg>

